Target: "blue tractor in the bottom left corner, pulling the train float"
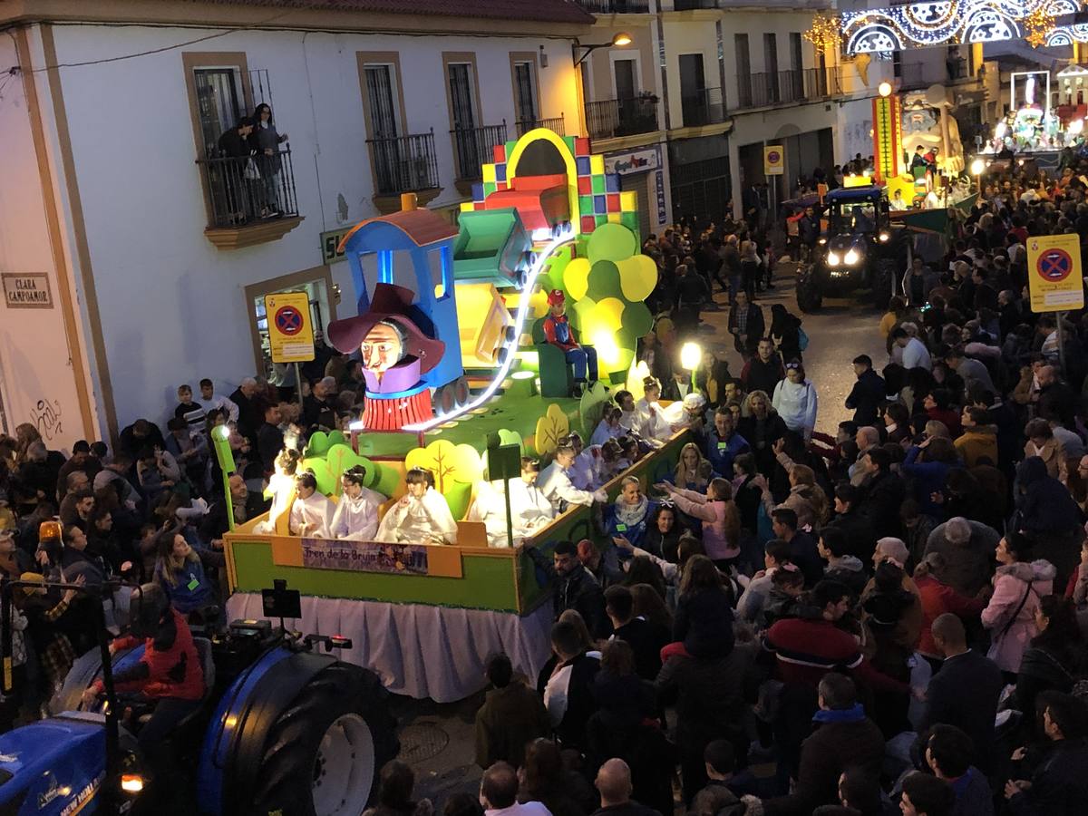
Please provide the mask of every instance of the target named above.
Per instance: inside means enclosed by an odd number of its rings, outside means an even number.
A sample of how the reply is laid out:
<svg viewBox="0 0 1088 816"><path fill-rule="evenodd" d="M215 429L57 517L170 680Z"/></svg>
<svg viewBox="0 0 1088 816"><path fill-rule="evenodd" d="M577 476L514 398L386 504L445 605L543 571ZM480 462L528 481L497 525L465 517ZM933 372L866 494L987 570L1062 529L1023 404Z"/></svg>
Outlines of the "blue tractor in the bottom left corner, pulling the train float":
<svg viewBox="0 0 1088 816"><path fill-rule="evenodd" d="M159 780L156 791L153 763L140 755L137 743L153 704L118 693L113 682L114 671L140 658L144 644L111 655L102 603L121 590L131 592L128 606L136 616L144 593L118 582L88 589L4 581L5 689L12 679L12 595L20 588L74 590L94 598L86 606L99 613L98 648L75 662L50 702L51 717L0 734L4 816L161 814L164 798L174 806L170 813L358 816L376 788L376 769L399 751L378 676L327 654L350 648L346 638L287 631L284 618L301 615L299 593L276 581L263 596L264 615L279 618L279 627L268 619L236 620L205 631L191 627L205 696L156 745L178 776L176 781ZM88 710L81 697L98 679L104 698Z"/></svg>

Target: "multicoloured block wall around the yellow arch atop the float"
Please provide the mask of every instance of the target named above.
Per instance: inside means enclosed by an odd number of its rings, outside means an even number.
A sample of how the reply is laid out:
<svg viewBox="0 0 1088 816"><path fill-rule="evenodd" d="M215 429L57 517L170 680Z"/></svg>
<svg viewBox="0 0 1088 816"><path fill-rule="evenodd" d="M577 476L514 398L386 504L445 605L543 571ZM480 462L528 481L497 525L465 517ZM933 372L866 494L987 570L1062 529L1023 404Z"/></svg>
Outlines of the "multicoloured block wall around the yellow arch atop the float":
<svg viewBox="0 0 1088 816"><path fill-rule="evenodd" d="M638 194L622 193L619 176L605 172L605 159L590 152L590 140L580 136L565 136L564 144L574 157L578 173L578 212L571 219L583 235L602 224L623 224L639 234ZM507 188L506 158L514 152L516 141L495 146L495 161L483 165L483 181L472 185L472 201L461 205L462 212L484 209L487 196Z"/></svg>

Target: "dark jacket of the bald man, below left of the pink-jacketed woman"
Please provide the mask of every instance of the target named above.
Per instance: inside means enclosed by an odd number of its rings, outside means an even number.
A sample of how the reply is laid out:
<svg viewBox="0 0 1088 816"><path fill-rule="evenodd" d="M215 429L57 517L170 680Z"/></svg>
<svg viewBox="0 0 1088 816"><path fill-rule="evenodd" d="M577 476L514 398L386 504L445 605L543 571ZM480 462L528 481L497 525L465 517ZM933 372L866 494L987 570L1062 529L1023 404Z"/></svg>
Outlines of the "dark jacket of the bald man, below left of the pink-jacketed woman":
<svg viewBox="0 0 1088 816"><path fill-rule="evenodd" d="M976 764L988 771L993 763L993 718L1002 688L1001 669L980 652L972 650L948 658L929 681L918 733L937 722L955 726L975 742Z"/></svg>

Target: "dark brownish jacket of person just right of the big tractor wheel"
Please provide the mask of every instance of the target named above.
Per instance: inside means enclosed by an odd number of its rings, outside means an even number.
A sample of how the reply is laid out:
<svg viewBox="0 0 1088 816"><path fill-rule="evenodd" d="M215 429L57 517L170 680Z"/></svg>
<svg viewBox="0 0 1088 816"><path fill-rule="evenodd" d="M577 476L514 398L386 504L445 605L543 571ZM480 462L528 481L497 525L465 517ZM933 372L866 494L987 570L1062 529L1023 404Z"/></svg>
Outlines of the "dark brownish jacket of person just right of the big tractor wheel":
<svg viewBox="0 0 1088 816"><path fill-rule="evenodd" d="M481 768L499 761L521 767L526 745L552 731L540 695L519 682L487 692L475 717L475 758Z"/></svg>

